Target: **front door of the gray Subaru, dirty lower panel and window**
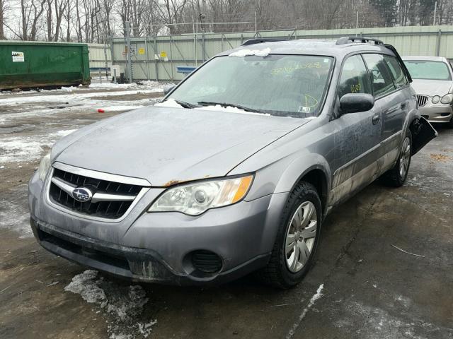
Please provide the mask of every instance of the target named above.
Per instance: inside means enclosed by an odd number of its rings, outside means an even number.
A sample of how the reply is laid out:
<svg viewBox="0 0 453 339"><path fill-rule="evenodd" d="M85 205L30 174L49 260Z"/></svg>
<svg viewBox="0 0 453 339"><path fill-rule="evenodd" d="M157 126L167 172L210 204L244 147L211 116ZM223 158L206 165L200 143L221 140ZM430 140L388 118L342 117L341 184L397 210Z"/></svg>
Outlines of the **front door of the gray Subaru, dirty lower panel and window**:
<svg viewBox="0 0 453 339"><path fill-rule="evenodd" d="M360 54L343 63L338 100L348 93L372 94L369 73ZM329 123L333 128L335 155L331 200L333 206L376 179L381 141L381 111L342 114Z"/></svg>

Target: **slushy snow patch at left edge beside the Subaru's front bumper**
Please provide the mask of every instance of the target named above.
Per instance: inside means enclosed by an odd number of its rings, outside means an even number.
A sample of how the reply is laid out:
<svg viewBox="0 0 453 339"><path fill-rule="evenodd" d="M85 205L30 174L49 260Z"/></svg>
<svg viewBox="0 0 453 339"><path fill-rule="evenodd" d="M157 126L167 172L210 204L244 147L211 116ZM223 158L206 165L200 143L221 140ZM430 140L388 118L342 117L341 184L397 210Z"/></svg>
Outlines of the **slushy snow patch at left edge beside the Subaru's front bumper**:
<svg viewBox="0 0 453 339"><path fill-rule="evenodd" d="M18 232L19 238L33 237L30 228L30 213L23 204L26 199L27 185L23 184L17 188L11 200L0 200L0 229L13 230Z"/></svg>

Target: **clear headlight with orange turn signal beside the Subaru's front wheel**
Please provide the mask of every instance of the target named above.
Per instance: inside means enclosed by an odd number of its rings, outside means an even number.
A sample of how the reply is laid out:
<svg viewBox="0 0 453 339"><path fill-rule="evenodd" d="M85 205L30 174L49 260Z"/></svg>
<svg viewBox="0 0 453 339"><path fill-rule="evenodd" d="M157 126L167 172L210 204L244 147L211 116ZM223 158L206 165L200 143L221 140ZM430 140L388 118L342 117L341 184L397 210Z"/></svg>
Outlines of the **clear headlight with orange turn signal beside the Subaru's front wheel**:
<svg viewBox="0 0 453 339"><path fill-rule="evenodd" d="M216 181L194 182L168 189L148 212L177 211L188 215L201 213L241 201L251 186L253 175Z"/></svg>

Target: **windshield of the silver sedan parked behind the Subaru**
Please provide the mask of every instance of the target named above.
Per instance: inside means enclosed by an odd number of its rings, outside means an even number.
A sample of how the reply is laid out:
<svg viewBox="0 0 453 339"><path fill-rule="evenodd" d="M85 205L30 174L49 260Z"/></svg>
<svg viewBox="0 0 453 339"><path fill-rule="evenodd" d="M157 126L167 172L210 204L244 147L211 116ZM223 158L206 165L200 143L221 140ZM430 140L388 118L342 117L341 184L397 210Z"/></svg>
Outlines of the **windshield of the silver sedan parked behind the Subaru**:
<svg viewBox="0 0 453 339"><path fill-rule="evenodd" d="M447 64L442 61L405 60L413 79L452 80Z"/></svg>

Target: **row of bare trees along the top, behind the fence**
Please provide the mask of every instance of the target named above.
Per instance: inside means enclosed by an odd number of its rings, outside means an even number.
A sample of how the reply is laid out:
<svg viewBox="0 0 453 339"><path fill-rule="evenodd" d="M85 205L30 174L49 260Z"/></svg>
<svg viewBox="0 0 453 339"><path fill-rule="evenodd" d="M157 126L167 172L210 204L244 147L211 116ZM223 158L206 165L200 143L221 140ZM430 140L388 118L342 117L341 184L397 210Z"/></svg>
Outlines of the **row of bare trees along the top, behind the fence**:
<svg viewBox="0 0 453 339"><path fill-rule="evenodd" d="M435 0L0 0L0 39L102 42L132 35L431 25ZM20 8L20 20L14 11ZM453 0L437 0L436 23L453 24ZM256 20L256 24L255 24ZM217 24L211 24L215 22ZM230 24L218 24L218 23ZM181 25L176 25L181 24ZM120 30L117 30L120 28ZM106 33L108 32L108 33ZM6 35L6 37L5 37Z"/></svg>

